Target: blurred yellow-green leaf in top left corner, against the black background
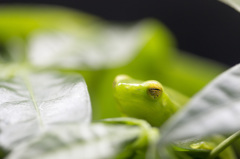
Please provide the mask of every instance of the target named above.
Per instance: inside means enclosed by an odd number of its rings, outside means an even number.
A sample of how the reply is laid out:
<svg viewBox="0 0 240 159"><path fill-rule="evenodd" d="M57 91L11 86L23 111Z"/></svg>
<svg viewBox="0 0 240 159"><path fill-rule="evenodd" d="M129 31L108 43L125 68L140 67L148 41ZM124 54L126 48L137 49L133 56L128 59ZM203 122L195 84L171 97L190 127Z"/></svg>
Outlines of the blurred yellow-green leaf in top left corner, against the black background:
<svg viewBox="0 0 240 159"><path fill-rule="evenodd" d="M27 39L39 30L84 34L98 18L73 9L47 5L1 5L0 41ZM81 30L83 29L83 30Z"/></svg>

